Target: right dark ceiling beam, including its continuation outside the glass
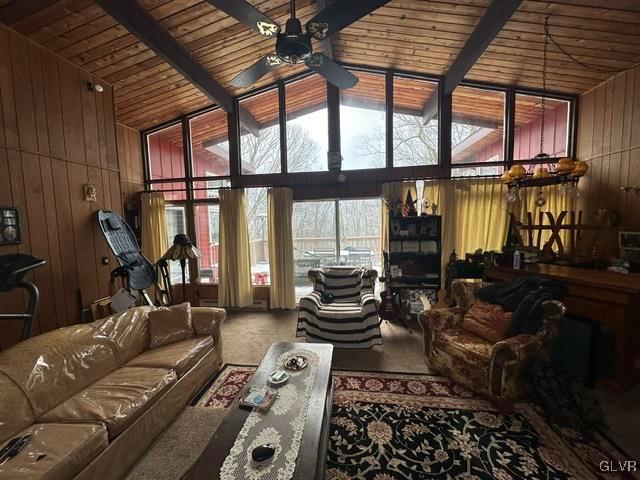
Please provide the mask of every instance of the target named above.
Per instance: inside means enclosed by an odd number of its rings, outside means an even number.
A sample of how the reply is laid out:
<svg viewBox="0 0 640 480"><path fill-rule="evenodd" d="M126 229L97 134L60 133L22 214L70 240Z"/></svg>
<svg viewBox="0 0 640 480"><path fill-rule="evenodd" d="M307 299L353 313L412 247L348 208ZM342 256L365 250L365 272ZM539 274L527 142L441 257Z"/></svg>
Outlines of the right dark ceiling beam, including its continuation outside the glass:
<svg viewBox="0 0 640 480"><path fill-rule="evenodd" d="M460 84L521 3L522 0L492 0L444 76L441 85L445 95ZM437 95L432 95L425 102L422 115L425 124L437 115L437 100Z"/></svg>

